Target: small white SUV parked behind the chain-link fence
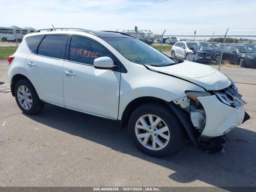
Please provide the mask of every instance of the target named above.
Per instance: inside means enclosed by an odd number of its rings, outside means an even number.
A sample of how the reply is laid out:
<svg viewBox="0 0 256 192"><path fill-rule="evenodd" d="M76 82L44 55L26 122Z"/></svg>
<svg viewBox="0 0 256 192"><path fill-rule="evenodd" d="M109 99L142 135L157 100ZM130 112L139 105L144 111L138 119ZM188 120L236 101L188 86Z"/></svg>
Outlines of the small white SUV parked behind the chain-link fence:
<svg viewBox="0 0 256 192"><path fill-rule="evenodd" d="M196 41L178 41L172 46L171 56L188 60L188 53L193 52L189 48L193 45L200 46Z"/></svg>

